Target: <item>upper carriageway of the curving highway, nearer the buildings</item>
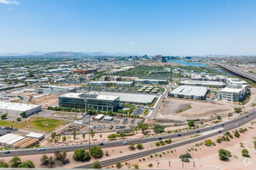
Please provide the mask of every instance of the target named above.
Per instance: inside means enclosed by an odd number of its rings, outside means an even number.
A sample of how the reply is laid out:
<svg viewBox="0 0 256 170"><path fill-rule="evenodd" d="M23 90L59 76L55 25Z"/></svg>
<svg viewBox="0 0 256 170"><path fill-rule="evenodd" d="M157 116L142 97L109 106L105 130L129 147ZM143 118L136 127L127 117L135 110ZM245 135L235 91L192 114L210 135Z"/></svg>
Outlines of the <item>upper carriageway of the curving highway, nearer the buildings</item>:
<svg viewBox="0 0 256 170"><path fill-rule="evenodd" d="M237 117L236 119L227 122L226 126L228 124L235 124L235 123L243 121L243 120L246 121L246 119L244 119L245 117L247 117L248 120L249 119L251 120L251 119L254 119L255 114L254 114L254 112L252 112L251 114L246 114L245 116ZM247 123L247 122L245 122L245 123ZM222 127L222 128L224 128L224 127ZM209 131L211 129L212 129L211 127L204 128L203 130L201 129L202 131L200 131L200 133L203 132L203 131ZM197 129L195 131L199 131L199 129ZM185 132L182 132L180 134L182 134L183 136L184 135L197 134L197 133L195 133L195 131L185 131ZM127 142L133 142L134 144L139 144L139 143L146 143L146 142L150 142L150 141L157 141L157 140L159 140L159 138L165 139L165 138L177 138L177 137L178 137L178 134L168 134L168 135L164 135L164 136L133 139L133 140L126 140L126 141ZM120 145L123 145L122 142L123 141L106 142L105 145L102 146L102 148L120 146ZM92 145L98 145L98 144L92 144ZM50 147L50 148L46 148L46 151L37 151L37 149L26 149L26 151L25 151L25 149L18 150L18 151L17 150L12 150L11 154L9 154L9 155L17 155L17 154L19 154L19 155L28 155L28 154L32 155L32 154L40 154L40 153L52 153L52 152L57 151L57 150L73 151L74 149L77 149L77 148L88 149L88 145L71 145L71 146ZM4 153L4 151L2 151L2 153ZM5 156L5 155L0 155L0 157L1 156Z"/></svg>

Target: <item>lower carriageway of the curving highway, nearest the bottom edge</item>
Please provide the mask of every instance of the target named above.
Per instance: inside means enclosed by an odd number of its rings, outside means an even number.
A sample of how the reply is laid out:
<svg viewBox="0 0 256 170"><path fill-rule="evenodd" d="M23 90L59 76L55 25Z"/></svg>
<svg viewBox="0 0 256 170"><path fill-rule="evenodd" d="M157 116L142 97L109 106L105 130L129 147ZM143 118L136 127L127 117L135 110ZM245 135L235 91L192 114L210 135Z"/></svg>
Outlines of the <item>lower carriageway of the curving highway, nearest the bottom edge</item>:
<svg viewBox="0 0 256 170"><path fill-rule="evenodd" d="M252 119L253 119L253 117L250 117L249 119L247 119L247 121L251 121ZM246 123L247 122L243 122L241 124L246 124ZM230 131L231 129L234 129L234 128L237 128L237 126L234 125L234 124L230 124L226 128L224 128L222 132ZM112 158L110 160L102 161L102 162L100 162L100 164L102 166L106 166L106 165L115 164L116 162L124 162L124 161L128 161L130 159L140 158L140 157L143 157L145 155L150 155L150 154L157 153L159 151L165 151L165 150L168 150L170 148L177 148L177 147L182 146L182 145L188 145L188 144L193 143L195 141L201 141L202 139L210 138L210 137L213 137L217 134L220 134L220 133L218 131L216 131L212 134L206 134L206 135L203 135L203 136L199 136L197 138L189 139L187 141L180 141L180 142L177 142L177 143L174 143L174 144L171 144L171 145L164 145L164 146L159 147L159 148L154 148L154 149L150 149L150 150L147 150L147 151L140 151L140 152L135 153L135 154L122 156L121 158ZM92 167L92 163L88 164L88 165L81 165L81 166L78 166L78 167L75 167L75 168L91 168L91 167Z"/></svg>

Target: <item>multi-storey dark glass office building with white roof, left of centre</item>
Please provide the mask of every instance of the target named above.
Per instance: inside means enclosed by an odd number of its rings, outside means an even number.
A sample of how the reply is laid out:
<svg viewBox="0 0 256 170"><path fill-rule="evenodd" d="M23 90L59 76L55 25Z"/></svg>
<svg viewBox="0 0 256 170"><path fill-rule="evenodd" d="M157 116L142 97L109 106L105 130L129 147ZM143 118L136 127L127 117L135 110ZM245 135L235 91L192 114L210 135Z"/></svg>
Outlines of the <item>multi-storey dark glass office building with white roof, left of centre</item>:
<svg viewBox="0 0 256 170"><path fill-rule="evenodd" d="M89 93L65 93L59 97L60 107L85 108L95 107L95 110L117 111L119 97Z"/></svg>

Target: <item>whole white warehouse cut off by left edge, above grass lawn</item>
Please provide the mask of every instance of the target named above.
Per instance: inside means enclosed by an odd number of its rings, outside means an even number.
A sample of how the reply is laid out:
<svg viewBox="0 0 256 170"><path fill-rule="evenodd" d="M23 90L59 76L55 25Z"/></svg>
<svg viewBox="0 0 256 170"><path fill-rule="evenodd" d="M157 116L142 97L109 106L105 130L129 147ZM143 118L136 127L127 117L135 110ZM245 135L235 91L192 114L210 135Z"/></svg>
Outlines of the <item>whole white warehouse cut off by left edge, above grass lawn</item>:
<svg viewBox="0 0 256 170"><path fill-rule="evenodd" d="M41 106L36 104L19 104L13 102L2 102L0 101L0 113L12 114L19 116L23 111L26 112L26 117L31 114L41 111Z"/></svg>

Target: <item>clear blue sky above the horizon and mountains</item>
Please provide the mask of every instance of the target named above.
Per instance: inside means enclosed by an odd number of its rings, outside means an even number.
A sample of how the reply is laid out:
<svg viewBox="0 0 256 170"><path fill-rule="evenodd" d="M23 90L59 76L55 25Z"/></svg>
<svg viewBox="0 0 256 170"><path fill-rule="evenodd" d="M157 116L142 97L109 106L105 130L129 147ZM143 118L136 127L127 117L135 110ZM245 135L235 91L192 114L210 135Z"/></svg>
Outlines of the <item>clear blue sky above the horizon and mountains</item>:
<svg viewBox="0 0 256 170"><path fill-rule="evenodd" d="M0 0L0 53L255 55L254 0Z"/></svg>

